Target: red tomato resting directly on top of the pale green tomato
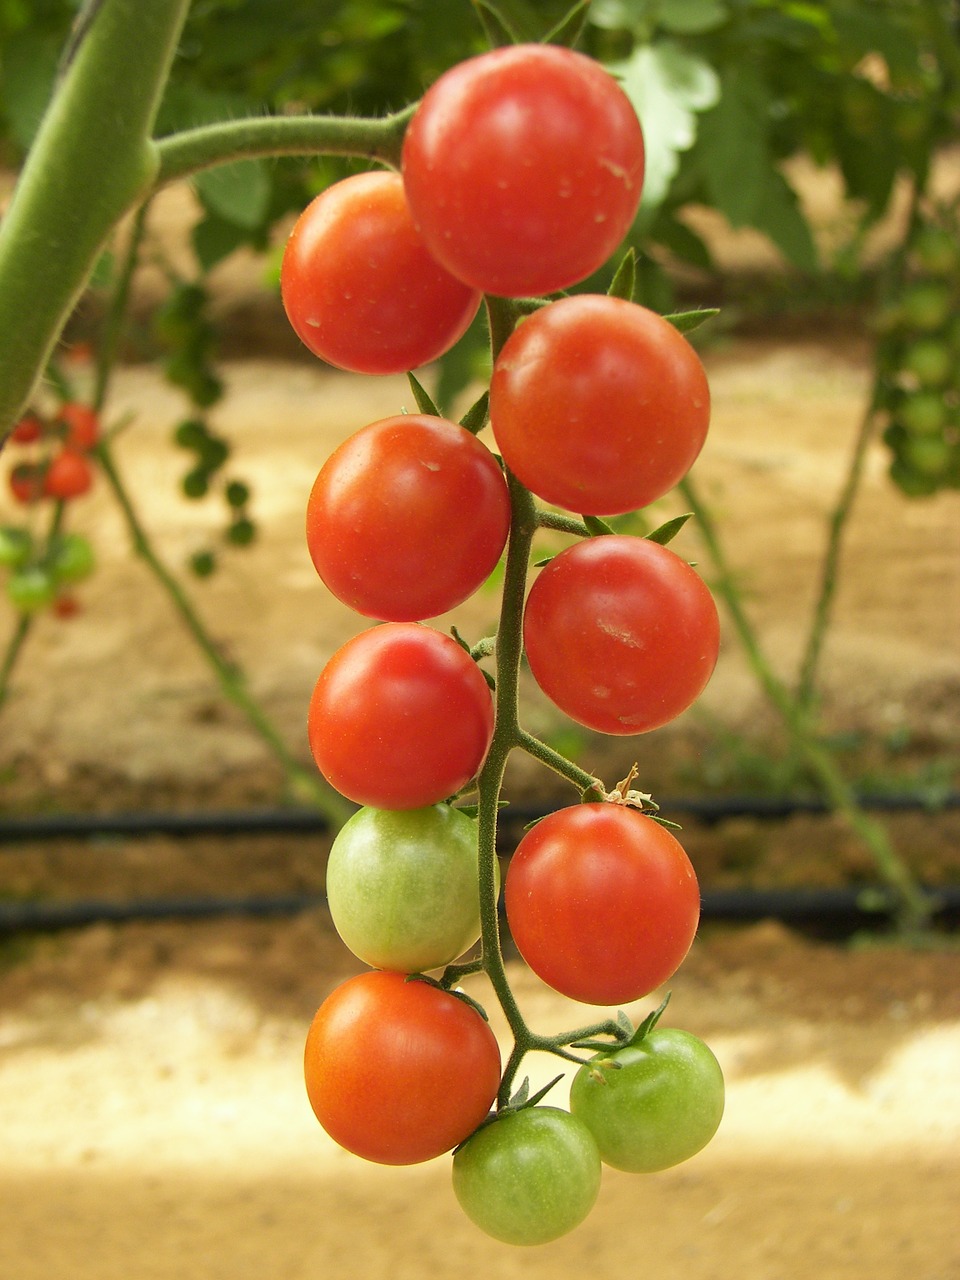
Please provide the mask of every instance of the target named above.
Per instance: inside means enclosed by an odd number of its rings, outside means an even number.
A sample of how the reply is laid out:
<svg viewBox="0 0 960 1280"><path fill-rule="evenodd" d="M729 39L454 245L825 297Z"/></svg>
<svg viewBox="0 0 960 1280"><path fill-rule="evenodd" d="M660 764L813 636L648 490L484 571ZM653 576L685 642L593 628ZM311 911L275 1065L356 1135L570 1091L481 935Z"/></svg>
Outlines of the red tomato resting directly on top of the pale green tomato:
<svg viewBox="0 0 960 1280"><path fill-rule="evenodd" d="M493 739L493 698L451 636L385 622L324 667L307 733L317 768L349 800L421 809L479 772Z"/></svg>

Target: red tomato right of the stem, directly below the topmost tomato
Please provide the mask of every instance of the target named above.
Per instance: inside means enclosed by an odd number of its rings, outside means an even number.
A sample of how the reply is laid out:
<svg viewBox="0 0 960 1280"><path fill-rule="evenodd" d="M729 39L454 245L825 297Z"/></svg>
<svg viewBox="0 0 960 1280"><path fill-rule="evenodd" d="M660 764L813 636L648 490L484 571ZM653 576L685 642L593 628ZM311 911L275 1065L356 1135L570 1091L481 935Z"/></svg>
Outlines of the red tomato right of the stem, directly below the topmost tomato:
<svg viewBox="0 0 960 1280"><path fill-rule="evenodd" d="M696 460L709 419L694 348L622 298L543 307L507 340L490 383L503 461L539 498L590 516L663 497Z"/></svg>

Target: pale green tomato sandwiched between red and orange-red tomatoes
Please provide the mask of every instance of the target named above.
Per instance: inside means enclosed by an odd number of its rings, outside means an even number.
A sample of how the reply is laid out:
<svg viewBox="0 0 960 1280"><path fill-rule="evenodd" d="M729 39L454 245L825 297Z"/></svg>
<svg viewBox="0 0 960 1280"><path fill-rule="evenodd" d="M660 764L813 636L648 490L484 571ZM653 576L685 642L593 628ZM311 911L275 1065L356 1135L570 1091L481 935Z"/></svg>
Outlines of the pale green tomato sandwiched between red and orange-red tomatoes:
<svg viewBox="0 0 960 1280"><path fill-rule="evenodd" d="M449 964L480 937L476 822L447 804L360 809L330 849L326 899L365 964L398 973Z"/></svg>

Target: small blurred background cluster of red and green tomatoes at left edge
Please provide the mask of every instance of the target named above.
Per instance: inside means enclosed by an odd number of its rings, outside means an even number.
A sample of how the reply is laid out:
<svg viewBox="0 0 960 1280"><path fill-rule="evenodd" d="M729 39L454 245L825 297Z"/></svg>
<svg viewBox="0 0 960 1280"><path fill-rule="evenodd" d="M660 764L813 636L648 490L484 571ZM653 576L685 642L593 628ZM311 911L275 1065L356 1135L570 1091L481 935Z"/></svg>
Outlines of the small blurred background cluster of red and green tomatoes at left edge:
<svg viewBox="0 0 960 1280"><path fill-rule="evenodd" d="M10 431L14 502L32 513L42 503L81 498L93 484L99 439L100 417L79 401L64 401L50 413L24 413ZM26 525L0 527L0 567L8 570L5 593L18 613L52 608L70 617L78 608L73 589L92 572L93 552L79 534L37 536L28 516Z"/></svg>

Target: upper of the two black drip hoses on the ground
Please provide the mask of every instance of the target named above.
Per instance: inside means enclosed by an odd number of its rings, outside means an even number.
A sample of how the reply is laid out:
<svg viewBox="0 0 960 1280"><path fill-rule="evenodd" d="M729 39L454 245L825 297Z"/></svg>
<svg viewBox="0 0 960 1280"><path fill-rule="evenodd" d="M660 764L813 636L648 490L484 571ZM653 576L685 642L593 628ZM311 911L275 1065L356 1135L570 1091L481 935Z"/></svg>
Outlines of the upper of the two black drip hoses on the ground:
<svg viewBox="0 0 960 1280"><path fill-rule="evenodd" d="M947 795L863 795L864 809L883 813L936 813L960 808L960 792ZM664 817L689 817L713 824L727 818L777 820L794 814L827 814L828 804L815 796L696 796L662 800ZM508 805L500 813L504 831L535 822L550 808ZM90 840L109 836L284 836L326 835L329 822L316 809L225 809L157 813L64 813L8 815L0 818L0 845L47 840Z"/></svg>

